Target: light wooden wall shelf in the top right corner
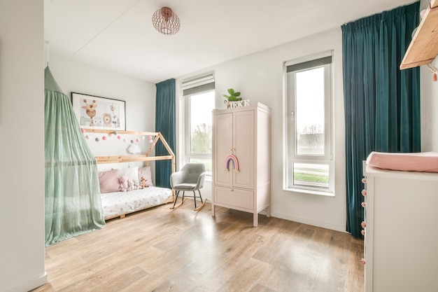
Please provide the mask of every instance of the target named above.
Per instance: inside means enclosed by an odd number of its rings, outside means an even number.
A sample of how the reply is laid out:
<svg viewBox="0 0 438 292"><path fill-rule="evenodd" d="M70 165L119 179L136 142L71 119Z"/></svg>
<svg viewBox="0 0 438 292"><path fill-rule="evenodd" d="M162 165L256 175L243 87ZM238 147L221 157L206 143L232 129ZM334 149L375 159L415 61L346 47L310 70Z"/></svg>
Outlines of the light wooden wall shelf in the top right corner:
<svg viewBox="0 0 438 292"><path fill-rule="evenodd" d="M404 55L400 69L429 64L438 55L438 0L429 7Z"/></svg>

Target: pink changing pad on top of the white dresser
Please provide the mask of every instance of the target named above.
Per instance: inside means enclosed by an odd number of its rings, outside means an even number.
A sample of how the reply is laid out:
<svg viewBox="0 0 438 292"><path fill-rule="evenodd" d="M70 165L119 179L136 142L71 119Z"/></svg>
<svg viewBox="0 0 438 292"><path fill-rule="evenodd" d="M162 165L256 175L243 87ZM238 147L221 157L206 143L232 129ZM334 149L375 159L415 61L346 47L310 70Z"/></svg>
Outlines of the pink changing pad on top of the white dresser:
<svg viewBox="0 0 438 292"><path fill-rule="evenodd" d="M438 153L383 153L368 155L367 165L404 172L438 172Z"/></svg>

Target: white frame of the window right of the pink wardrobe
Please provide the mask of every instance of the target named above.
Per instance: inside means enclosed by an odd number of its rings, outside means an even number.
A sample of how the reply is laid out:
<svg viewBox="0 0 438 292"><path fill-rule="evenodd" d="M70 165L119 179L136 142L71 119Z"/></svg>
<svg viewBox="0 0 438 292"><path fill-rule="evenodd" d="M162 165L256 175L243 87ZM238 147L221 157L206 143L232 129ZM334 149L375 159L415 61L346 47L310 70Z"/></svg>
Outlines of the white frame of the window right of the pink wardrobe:
<svg viewBox="0 0 438 292"><path fill-rule="evenodd" d="M316 55L302 57L297 60L285 62L284 64L284 93L283 93L283 117L284 117L284 176L283 176L283 189L291 190L299 193L311 193L316 195L334 195L334 157L333 157L333 68L332 60L329 64L318 64L318 61L323 58L330 57L332 59L332 51L323 52ZM326 59L327 60L327 59ZM299 66L294 66L299 64ZM288 67L298 68L296 71L288 72ZM301 68L300 68L301 67ZM308 69L314 69L318 67L324 67L325 76L325 153L324 155L297 155L296 154L296 125L295 125L295 73L299 71L305 71ZM292 78L293 77L293 78ZM302 186L294 184L294 163L315 164L315 165L328 165L329 180L328 188L320 188L318 186Z"/></svg>

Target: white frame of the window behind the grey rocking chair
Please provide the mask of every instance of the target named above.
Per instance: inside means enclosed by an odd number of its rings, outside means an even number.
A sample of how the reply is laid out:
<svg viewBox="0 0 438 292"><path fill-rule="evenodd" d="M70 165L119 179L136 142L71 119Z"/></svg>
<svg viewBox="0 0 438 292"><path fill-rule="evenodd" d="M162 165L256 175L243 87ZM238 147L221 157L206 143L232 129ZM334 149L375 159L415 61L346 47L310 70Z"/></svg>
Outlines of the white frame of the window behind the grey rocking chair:
<svg viewBox="0 0 438 292"><path fill-rule="evenodd" d="M213 153L192 153L190 152L190 102L192 95L199 95L205 92L214 92L214 74L204 74L181 82L183 90L184 111L183 111L183 162L188 163L190 159L209 159L213 162ZM213 130L213 129L212 129ZM211 180L211 172L207 172L207 180Z"/></svg>

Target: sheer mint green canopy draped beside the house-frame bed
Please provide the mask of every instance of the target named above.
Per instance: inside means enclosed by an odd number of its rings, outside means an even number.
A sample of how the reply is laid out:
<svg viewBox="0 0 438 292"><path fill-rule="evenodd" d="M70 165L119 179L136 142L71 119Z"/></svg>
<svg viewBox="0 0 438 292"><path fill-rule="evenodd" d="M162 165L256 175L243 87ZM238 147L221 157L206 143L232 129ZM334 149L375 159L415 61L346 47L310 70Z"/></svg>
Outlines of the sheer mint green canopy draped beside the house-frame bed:
<svg viewBox="0 0 438 292"><path fill-rule="evenodd" d="M48 67L44 71L45 245L105 225L97 162L69 97Z"/></svg>

